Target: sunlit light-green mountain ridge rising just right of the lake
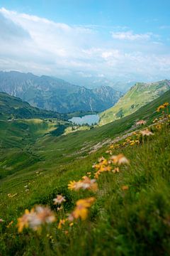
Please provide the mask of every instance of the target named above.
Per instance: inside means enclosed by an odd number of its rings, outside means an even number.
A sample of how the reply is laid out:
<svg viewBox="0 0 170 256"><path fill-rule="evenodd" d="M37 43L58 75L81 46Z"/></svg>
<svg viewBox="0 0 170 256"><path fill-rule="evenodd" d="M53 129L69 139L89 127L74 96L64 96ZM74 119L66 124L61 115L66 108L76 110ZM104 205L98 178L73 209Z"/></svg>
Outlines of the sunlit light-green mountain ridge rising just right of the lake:
<svg viewBox="0 0 170 256"><path fill-rule="evenodd" d="M137 82L113 107L100 114L99 124L107 124L132 114L167 90L170 90L170 80L150 83Z"/></svg>

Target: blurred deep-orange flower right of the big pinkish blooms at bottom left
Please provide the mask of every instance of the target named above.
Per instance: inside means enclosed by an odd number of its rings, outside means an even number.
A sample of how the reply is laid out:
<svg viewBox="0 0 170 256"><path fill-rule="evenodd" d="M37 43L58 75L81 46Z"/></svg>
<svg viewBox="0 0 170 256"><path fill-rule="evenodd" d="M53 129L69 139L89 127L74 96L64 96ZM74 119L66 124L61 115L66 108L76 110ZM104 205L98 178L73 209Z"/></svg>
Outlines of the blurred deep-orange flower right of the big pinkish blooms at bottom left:
<svg viewBox="0 0 170 256"><path fill-rule="evenodd" d="M71 213L71 215L69 215L69 220L74 220L77 218L81 218L81 220L86 220L89 213L88 209L91 207L94 201L94 197L78 200L76 203L76 208Z"/></svg>

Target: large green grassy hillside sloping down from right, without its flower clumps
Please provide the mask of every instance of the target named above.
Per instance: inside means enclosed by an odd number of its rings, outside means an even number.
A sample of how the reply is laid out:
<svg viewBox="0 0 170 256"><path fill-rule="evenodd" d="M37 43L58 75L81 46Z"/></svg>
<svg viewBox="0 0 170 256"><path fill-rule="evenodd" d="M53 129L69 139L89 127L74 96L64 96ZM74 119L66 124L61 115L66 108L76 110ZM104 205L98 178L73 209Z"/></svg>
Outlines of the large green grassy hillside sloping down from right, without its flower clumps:
<svg viewBox="0 0 170 256"><path fill-rule="evenodd" d="M90 131L37 137L28 147L33 161L23 155L27 147L17 152L13 149L12 158L12 150L1 148L2 255L168 255L168 124L162 124L161 129L152 128L154 136L140 139L139 145L123 146L124 140L120 141L113 154L125 154L130 165L122 166L117 174L101 174L98 191L69 191L67 184L78 181L89 171L93 178L91 166L98 157L109 158L108 144L115 137L137 129L135 123L139 119L145 119L146 126L152 124L160 116L157 107L169 99L170 91L128 117ZM62 210L53 205L57 194L67 200ZM58 229L60 218L67 218L79 198L89 196L96 198L89 218ZM37 204L50 206L57 221L38 233L31 229L18 233L17 218L26 208L30 210Z"/></svg>

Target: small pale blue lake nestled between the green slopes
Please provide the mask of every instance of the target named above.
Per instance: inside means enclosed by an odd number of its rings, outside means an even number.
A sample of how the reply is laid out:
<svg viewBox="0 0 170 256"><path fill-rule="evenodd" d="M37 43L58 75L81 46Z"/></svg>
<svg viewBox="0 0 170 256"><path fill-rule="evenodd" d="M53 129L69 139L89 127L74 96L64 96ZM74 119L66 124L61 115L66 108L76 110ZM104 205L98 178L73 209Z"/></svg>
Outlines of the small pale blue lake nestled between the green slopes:
<svg viewBox="0 0 170 256"><path fill-rule="evenodd" d="M99 116L98 114L87 114L84 117L72 117L72 119L69 119L69 121L75 124L98 124Z"/></svg>

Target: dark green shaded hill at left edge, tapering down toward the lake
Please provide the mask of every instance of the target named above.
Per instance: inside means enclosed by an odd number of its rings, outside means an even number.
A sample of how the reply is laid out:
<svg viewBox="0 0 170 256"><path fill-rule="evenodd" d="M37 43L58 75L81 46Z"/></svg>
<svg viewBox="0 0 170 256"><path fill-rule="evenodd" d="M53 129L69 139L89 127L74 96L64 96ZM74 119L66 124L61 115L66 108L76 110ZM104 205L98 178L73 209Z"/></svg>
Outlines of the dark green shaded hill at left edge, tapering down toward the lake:
<svg viewBox="0 0 170 256"><path fill-rule="evenodd" d="M32 107L28 102L23 102L20 98L0 92L0 119L32 119L32 118L57 118L64 119L64 114L57 112L40 110Z"/></svg>

